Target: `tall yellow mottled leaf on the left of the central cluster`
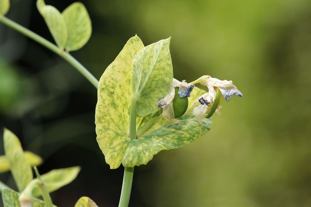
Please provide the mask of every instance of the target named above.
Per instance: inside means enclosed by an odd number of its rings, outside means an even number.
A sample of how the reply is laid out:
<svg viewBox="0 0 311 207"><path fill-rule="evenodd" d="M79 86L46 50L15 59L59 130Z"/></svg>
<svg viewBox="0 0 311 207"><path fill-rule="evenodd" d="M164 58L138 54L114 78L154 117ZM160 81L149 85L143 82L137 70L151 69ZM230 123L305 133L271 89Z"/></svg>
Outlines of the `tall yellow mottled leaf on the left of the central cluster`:
<svg viewBox="0 0 311 207"><path fill-rule="evenodd" d="M128 108L132 60L143 47L139 37L130 38L99 81L95 109L97 142L111 169L120 166L130 142Z"/></svg>

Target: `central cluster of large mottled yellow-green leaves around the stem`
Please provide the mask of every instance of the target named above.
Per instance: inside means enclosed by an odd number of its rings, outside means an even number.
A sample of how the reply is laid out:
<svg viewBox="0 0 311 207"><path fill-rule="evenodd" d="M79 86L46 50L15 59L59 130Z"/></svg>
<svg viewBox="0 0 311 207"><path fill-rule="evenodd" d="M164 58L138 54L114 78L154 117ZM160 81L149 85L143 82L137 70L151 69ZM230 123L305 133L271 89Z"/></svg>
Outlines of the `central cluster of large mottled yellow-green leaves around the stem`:
<svg viewBox="0 0 311 207"><path fill-rule="evenodd" d="M142 47L141 40L132 37L99 82L95 111L97 141L112 169L121 162L125 167L146 164L161 150L193 142L211 126L210 119L200 124L193 115L183 116L180 123L171 123L160 116L147 133L141 130L137 139L129 139L131 84L131 98L138 100L136 124L139 130L149 119L154 119L152 113L159 110L157 100L169 93L173 80L169 39ZM196 88L193 97L202 93L205 91ZM194 98L189 100L191 105Z"/></svg>

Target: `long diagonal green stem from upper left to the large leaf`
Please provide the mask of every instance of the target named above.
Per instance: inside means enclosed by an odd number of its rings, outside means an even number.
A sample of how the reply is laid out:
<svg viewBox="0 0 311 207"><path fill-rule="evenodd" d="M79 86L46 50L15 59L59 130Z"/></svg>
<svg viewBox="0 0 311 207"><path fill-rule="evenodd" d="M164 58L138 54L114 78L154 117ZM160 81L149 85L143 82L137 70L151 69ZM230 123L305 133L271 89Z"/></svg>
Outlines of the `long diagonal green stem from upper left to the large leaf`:
<svg viewBox="0 0 311 207"><path fill-rule="evenodd" d="M61 56L63 59L65 59L67 62L69 62L74 68L76 68L88 81L90 81L95 88L98 87L98 80L83 66L81 63L79 63L74 57L72 57L68 52L65 52L61 50L59 47L57 47L55 44L49 42L48 40L44 39L43 37L39 36L38 34L35 34L34 32L30 31L29 29L17 24L16 22L8 19L5 16L0 17L0 21L11 27L12 29L15 29L16 31L26 35L27 37L35 40L36 42L40 43L44 47L47 47L51 51L55 52L59 56Z"/></svg>

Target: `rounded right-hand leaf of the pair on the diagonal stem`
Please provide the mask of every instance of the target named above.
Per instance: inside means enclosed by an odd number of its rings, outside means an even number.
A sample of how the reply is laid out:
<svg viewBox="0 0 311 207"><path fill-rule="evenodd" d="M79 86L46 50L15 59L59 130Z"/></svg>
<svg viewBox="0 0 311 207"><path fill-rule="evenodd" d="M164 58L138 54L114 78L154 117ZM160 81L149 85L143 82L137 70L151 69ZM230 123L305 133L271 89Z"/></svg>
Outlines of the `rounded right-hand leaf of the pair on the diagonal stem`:
<svg viewBox="0 0 311 207"><path fill-rule="evenodd" d="M73 51L83 47L91 37L92 25L86 8L80 2L72 3L63 11L67 25L66 50Z"/></svg>

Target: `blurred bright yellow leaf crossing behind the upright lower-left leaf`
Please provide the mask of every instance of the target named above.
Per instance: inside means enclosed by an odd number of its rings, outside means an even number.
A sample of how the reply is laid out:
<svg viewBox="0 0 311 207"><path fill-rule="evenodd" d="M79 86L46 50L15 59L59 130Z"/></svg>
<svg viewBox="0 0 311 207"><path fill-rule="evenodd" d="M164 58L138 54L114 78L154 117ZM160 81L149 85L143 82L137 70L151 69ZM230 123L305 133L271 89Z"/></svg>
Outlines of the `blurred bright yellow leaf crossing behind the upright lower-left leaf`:
<svg viewBox="0 0 311 207"><path fill-rule="evenodd" d="M26 157L27 162L31 165L31 166L38 166L40 164L42 164L43 160L39 155L36 155L32 152L29 151L25 151L24 155ZM0 156L0 173L6 172L10 170L10 164L7 161L7 158L5 157L5 155L1 155Z"/></svg>

